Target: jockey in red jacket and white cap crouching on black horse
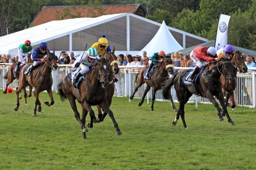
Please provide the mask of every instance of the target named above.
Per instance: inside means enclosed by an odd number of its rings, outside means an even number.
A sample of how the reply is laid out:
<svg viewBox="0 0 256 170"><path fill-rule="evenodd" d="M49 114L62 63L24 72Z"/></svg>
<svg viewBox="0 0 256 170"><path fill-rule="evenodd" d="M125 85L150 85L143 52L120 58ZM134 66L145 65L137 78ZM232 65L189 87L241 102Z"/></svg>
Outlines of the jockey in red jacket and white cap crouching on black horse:
<svg viewBox="0 0 256 170"><path fill-rule="evenodd" d="M219 61L220 59L216 58L216 49L214 47L196 47L190 53L190 58L196 63L196 68L191 74L188 82L193 82L195 75L203 67L203 64L208 64L212 61Z"/></svg>

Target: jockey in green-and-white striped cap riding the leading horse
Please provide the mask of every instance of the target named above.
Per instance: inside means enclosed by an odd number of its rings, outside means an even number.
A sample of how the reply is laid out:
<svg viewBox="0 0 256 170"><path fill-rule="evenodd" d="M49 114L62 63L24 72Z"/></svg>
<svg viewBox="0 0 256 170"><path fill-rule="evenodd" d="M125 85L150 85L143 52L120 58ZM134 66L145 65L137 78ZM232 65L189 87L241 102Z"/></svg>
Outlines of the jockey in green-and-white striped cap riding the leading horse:
<svg viewBox="0 0 256 170"><path fill-rule="evenodd" d="M82 70L80 70L80 72L78 72L78 74L76 75L76 77L73 78L72 81L72 86L74 86L77 82L80 76L88 73L90 71L90 67L94 66L95 64L97 64L96 59L100 59L100 57L98 56L98 51L95 48L89 48L84 55L80 55L76 61L74 62L74 64L72 65L72 68L78 68L80 66L80 68L82 68ZM80 64L81 63L81 64Z"/></svg>

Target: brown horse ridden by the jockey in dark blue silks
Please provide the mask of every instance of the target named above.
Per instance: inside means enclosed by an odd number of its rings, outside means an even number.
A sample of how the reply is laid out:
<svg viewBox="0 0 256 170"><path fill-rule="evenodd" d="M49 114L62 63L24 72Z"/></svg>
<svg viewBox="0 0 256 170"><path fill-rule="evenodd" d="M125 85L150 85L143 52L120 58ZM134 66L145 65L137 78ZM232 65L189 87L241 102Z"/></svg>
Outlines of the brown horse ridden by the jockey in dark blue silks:
<svg viewBox="0 0 256 170"><path fill-rule="evenodd" d="M57 65L57 57L53 53L48 53L48 58L44 63L42 63L39 68L34 69L34 72L32 76L25 75L24 72L26 69L32 65L32 63L26 64L22 70L20 70L20 76L19 76L19 86L16 88L16 95L17 95L17 106L14 107L14 110L17 111L20 106L20 101L18 98L19 92L26 86L30 85L35 88L34 90L34 95L36 97L36 102L35 102L35 109L33 113L33 117L36 116L36 107L38 105L37 111L40 112L42 111L41 108L41 103L38 99L39 93L47 90L50 98L51 98L51 103L49 102L44 102L47 106L52 106L54 104L53 96L52 96L52 70L57 70L58 65ZM24 96L25 97L25 96Z"/></svg>

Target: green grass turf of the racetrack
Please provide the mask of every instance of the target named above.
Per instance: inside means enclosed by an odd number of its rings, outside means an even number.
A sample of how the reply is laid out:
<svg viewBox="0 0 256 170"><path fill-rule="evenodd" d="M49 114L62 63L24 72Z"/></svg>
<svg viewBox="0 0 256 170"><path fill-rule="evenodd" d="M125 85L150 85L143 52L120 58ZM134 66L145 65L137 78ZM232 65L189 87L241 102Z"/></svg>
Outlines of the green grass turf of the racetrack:
<svg viewBox="0 0 256 170"><path fill-rule="evenodd" d="M146 101L138 107L139 99L114 97L110 108L123 135L115 135L107 116L84 140L68 101L54 93L48 107L47 93L39 99L42 112L32 117L34 96L14 111L16 95L1 90L0 169L256 169L256 109L228 108L236 123L230 126L226 117L218 121L212 104L186 104L184 129L181 119L171 125L176 112L169 102L155 102L151 111Z"/></svg>

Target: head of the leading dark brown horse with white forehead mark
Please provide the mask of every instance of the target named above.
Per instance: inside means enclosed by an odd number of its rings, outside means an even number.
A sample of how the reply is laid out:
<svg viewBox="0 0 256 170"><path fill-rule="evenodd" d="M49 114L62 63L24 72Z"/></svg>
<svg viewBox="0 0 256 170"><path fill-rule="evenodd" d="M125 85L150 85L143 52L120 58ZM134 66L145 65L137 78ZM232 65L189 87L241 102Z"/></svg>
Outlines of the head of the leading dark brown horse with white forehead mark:
<svg viewBox="0 0 256 170"><path fill-rule="evenodd" d="M108 63L108 59L105 59L104 57L97 60L97 72L98 72L98 80L102 83L102 88L107 88L108 84L113 81L113 75L111 66Z"/></svg>

